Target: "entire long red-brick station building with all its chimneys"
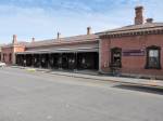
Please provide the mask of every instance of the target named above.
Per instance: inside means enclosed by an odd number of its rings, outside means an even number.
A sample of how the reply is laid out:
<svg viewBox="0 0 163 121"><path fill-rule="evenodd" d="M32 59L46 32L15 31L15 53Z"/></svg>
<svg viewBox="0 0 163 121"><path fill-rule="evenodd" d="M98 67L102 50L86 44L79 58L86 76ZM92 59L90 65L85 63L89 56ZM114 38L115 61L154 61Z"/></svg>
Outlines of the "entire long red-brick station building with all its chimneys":
<svg viewBox="0 0 163 121"><path fill-rule="evenodd" d="M143 8L135 9L134 25L117 29L57 39L17 42L2 46L1 59L20 66L97 70L163 78L163 23L143 21Z"/></svg>

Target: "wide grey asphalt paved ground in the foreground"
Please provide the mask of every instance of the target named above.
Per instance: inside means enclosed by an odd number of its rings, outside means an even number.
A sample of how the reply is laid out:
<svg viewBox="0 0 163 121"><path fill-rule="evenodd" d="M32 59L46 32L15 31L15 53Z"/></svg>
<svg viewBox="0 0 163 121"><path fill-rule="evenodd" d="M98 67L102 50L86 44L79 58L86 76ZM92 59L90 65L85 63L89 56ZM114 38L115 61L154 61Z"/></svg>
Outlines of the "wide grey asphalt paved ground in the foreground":
<svg viewBox="0 0 163 121"><path fill-rule="evenodd" d="M0 68L0 121L162 121L162 90Z"/></svg>

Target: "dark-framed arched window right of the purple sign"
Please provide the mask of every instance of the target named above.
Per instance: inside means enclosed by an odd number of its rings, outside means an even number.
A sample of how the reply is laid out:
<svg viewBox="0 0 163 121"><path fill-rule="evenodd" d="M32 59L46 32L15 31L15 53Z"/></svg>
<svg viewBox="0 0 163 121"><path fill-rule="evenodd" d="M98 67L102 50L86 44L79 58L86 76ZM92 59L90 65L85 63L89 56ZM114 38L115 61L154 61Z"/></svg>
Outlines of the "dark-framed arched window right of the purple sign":
<svg viewBox="0 0 163 121"><path fill-rule="evenodd" d="M149 46L147 48L147 69L161 69L161 48Z"/></svg>

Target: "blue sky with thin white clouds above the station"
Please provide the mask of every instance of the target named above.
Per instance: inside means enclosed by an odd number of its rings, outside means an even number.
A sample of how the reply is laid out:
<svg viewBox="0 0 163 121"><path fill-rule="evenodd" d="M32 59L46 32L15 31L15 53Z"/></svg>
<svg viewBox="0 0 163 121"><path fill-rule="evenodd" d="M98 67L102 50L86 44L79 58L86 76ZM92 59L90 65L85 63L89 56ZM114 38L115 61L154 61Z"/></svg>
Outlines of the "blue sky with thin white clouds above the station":
<svg viewBox="0 0 163 121"><path fill-rule="evenodd" d="M0 44L99 32L134 24L135 6L163 22L163 0L0 0Z"/></svg>

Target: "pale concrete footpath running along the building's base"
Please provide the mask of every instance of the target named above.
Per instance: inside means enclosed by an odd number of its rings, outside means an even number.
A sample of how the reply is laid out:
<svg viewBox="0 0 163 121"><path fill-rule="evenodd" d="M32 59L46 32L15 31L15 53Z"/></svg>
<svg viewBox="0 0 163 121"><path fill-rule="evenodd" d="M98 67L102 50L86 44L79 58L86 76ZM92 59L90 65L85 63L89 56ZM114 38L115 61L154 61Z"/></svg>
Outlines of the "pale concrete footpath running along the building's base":
<svg viewBox="0 0 163 121"><path fill-rule="evenodd" d="M28 71L43 71L43 72L51 73L51 75L92 79L92 80L101 80L101 81L112 81L112 82L120 82L122 84L131 84L131 85L138 85L138 86L163 89L163 80L111 77L111 76L106 76L106 75L98 75L95 72L82 73L79 71L68 72L68 71L59 71L59 70L29 68L29 67L18 67L18 66L12 66L12 67L26 69Z"/></svg>

